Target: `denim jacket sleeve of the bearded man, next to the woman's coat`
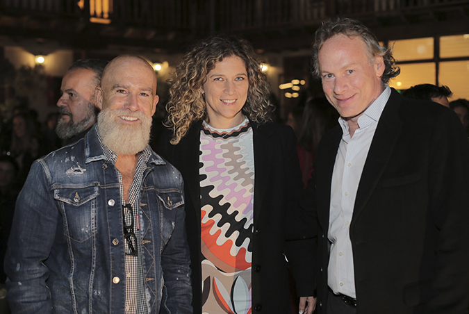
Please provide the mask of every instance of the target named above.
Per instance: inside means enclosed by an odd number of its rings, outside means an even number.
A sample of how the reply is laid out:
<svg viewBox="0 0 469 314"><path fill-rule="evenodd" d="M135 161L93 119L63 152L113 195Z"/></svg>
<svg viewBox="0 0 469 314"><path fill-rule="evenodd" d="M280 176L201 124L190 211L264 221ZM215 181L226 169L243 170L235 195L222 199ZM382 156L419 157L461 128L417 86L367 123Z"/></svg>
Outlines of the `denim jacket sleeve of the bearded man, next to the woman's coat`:
<svg viewBox="0 0 469 314"><path fill-rule="evenodd" d="M161 267L167 289L166 306L171 314L191 314L192 288L190 286L189 246L186 236L186 212L184 206L174 210L178 210L174 231L161 253Z"/></svg>

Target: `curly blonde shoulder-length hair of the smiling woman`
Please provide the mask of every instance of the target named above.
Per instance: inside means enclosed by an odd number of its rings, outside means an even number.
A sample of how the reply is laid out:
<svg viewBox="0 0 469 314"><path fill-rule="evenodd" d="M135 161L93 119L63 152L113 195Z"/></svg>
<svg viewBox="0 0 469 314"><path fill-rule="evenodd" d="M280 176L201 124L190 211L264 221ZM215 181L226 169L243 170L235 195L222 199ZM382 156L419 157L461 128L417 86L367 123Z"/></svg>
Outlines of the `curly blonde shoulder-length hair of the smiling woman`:
<svg viewBox="0 0 469 314"><path fill-rule="evenodd" d="M242 113L257 124L272 121L269 84L252 45L241 38L215 35L195 44L167 81L170 101L164 125L173 131L171 144L179 143L192 123L208 118L202 85L215 64L231 56L241 58L247 69L249 88Z"/></svg>

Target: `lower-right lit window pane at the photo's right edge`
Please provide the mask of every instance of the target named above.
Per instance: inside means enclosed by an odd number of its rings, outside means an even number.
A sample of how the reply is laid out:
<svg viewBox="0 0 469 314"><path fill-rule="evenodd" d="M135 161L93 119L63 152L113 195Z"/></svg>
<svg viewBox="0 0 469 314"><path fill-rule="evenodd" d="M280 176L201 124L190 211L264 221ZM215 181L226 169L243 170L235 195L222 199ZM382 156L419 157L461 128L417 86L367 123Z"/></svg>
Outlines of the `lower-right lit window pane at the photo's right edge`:
<svg viewBox="0 0 469 314"><path fill-rule="evenodd" d="M440 63L439 80L453 92L452 100L469 99L469 60Z"/></svg>

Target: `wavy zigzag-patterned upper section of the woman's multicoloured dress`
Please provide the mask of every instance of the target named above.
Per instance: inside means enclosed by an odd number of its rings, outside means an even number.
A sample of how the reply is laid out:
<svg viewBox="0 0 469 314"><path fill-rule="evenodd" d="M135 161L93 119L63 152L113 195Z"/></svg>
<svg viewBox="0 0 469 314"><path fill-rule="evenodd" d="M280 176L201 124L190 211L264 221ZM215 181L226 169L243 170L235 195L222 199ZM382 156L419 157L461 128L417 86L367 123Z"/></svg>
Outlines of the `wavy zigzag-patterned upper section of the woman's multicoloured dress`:
<svg viewBox="0 0 469 314"><path fill-rule="evenodd" d="M249 121L221 133L201 133L201 238L205 254L225 272L252 262L254 160ZM213 258L208 256L213 255Z"/></svg>

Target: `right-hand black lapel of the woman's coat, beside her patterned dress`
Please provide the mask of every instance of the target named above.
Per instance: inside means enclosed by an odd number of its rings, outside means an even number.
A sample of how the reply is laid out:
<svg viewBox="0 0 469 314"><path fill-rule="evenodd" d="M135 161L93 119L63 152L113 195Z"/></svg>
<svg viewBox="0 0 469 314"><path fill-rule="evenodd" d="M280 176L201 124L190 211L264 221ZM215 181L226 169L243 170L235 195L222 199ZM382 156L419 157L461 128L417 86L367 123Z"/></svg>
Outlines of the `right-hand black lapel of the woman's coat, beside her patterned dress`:
<svg viewBox="0 0 469 314"><path fill-rule="evenodd" d="M270 166L274 145L270 144L272 131L267 131L263 126L256 126L254 122L249 122L252 126L254 142L254 222L257 221L261 213L261 204L267 192L270 180Z"/></svg>

